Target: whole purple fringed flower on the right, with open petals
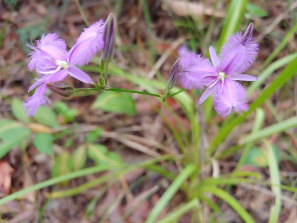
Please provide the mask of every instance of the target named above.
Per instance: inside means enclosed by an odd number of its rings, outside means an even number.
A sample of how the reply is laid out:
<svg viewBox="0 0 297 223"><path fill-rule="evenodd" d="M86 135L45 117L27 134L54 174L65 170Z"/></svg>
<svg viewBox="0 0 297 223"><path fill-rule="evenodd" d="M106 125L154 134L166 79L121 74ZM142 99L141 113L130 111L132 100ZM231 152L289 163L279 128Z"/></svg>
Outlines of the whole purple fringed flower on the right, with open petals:
<svg viewBox="0 0 297 223"><path fill-rule="evenodd" d="M258 44L252 38L252 24L244 35L241 32L232 35L222 47L219 57L213 47L209 47L209 59L200 55L188 54L181 58L180 82L186 89L206 90L200 97L201 104L209 95L213 95L214 109L225 117L232 111L247 111L246 91L239 81L256 81L257 78L243 74L253 63L258 52Z"/></svg>

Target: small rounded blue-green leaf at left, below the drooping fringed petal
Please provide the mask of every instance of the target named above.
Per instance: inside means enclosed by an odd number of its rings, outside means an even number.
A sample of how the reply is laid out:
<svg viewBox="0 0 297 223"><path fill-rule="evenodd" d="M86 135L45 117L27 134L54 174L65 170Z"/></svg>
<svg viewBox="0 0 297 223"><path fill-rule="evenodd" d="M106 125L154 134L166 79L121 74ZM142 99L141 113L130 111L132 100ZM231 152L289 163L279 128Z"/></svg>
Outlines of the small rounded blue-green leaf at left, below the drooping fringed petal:
<svg viewBox="0 0 297 223"><path fill-rule="evenodd" d="M53 136L49 133L39 133L33 139L35 148L44 154L53 155Z"/></svg>

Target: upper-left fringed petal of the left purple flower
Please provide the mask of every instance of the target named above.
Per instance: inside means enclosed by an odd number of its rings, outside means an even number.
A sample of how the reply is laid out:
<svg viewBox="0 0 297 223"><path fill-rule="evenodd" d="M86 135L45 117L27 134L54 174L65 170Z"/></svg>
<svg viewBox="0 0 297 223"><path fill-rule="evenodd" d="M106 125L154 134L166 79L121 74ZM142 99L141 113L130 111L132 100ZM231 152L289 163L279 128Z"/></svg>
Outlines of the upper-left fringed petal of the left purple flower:
<svg viewBox="0 0 297 223"><path fill-rule="evenodd" d="M56 33L43 34L36 43L36 47L27 45L32 50L28 64L30 71L35 68L47 70L47 67L55 65L54 60L66 60L66 43Z"/></svg>

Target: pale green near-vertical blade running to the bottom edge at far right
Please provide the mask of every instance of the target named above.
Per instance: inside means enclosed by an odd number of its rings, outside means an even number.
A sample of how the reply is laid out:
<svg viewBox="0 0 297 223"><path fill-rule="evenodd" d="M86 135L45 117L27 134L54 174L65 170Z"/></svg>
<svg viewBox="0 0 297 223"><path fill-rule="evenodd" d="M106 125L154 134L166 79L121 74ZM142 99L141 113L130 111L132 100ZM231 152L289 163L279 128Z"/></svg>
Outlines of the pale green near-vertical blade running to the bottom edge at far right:
<svg viewBox="0 0 297 223"><path fill-rule="evenodd" d="M271 208L269 223L278 223L282 207L282 191L280 186L277 186L281 184L278 156L271 144L267 140L264 140L264 142L268 150L269 173L271 184L273 185L271 188L275 194L275 205Z"/></svg>

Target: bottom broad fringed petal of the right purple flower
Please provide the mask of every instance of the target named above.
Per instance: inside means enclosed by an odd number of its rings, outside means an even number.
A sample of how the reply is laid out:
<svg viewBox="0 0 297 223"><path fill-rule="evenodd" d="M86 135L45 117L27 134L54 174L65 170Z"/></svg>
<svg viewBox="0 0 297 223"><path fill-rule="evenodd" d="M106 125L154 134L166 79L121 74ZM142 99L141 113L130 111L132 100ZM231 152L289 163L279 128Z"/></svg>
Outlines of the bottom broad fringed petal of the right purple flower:
<svg viewBox="0 0 297 223"><path fill-rule="evenodd" d="M232 111L247 111L246 91L239 83L225 79L223 87L220 81L214 88L213 104L219 115L226 117Z"/></svg>

